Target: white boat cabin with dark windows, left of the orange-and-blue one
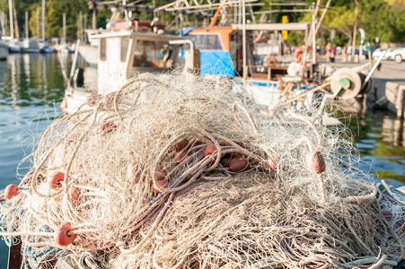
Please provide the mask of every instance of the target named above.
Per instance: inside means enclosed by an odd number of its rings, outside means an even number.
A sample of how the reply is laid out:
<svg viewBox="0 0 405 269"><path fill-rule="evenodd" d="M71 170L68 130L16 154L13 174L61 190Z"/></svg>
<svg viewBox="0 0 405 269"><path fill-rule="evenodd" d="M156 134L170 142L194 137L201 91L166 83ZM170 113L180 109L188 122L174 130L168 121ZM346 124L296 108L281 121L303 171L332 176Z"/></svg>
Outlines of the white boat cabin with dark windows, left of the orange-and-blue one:
<svg viewBox="0 0 405 269"><path fill-rule="evenodd" d="M162 73L184 64L183 46L171 45L180 36L121 30L94 36L100 39L99 93L117 91L137 73ZM181 43L181 42L180 42Z"/></svg>

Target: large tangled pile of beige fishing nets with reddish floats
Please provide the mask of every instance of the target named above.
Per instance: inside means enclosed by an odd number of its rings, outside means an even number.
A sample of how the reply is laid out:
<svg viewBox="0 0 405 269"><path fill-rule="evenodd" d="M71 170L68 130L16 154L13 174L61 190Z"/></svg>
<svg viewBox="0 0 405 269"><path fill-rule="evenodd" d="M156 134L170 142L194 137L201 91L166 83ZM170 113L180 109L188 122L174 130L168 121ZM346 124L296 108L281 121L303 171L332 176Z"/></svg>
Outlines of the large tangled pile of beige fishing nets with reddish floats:
<svg viewBox="0 0 405 269"><path fill-rule="evenodd" d="M312 108L269 117L233 83L143 74L57 119L1 205L23 266L396 265L403 197Z"/></svg>

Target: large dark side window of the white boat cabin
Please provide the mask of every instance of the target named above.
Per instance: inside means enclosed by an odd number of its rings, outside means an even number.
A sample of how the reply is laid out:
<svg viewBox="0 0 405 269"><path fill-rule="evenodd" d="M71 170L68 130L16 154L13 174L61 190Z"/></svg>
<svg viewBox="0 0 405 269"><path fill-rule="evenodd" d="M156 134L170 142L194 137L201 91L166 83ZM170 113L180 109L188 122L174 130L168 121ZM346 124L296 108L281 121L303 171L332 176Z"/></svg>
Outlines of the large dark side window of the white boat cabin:
<svg viewBox="0 0 405 269"><path fill-rule="evenodd" d="M136 40L133 66L170 67L170 51L166 42Z"/></svg>

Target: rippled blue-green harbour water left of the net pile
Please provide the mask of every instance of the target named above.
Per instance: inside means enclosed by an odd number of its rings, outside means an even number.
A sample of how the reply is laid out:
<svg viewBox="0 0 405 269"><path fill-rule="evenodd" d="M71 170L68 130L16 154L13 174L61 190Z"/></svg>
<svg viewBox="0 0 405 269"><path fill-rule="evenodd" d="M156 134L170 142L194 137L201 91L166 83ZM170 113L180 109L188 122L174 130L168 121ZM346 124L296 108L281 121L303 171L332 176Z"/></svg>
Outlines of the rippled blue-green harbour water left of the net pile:
<svg viewBox="0 0 405 269"><path fill-rule="evenodd" d="M61 100L64 89L56 56L13 54L0 63L1 188L15 183L17 165L31 152L33 139L48 119L60 115L54 100Z"/></svg>

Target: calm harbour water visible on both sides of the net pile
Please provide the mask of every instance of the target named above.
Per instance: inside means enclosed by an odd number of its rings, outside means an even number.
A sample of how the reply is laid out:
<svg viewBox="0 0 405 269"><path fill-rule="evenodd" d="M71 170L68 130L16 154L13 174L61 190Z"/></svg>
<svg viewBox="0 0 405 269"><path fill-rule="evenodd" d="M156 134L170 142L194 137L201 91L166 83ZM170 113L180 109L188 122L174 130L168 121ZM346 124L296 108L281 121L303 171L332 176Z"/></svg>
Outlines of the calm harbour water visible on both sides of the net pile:
<svg viewBox="0 0 405 269"><path fill-rule="evenodd" d="M71 58L62 61L70 70ZM0 61L0 188L18 184L30 166L19 163L31 153L34 143L58 110L65 83L56 55L11 55ZM360 166L376 180L395 187L405 184L405 129L403 122L387 111L369 111L352 119L359 151L366 161ZM19 176L20 175L20 176ZM7 266L8 247L0 243L0 268Z"/></svg>

